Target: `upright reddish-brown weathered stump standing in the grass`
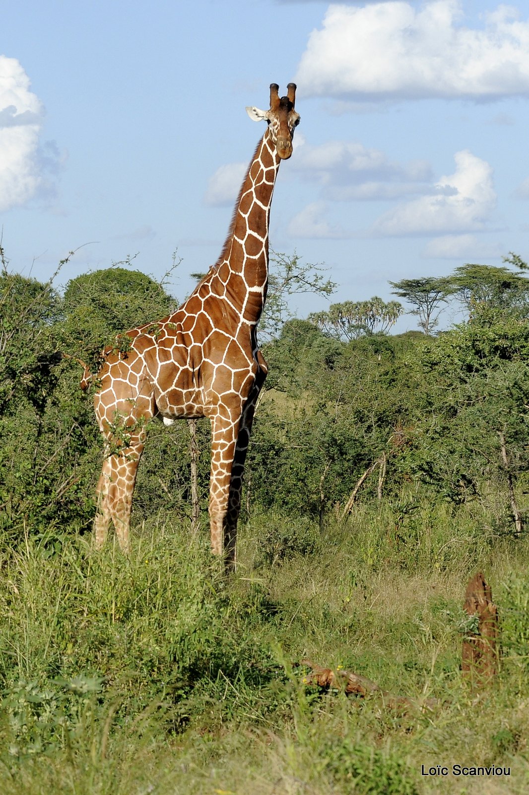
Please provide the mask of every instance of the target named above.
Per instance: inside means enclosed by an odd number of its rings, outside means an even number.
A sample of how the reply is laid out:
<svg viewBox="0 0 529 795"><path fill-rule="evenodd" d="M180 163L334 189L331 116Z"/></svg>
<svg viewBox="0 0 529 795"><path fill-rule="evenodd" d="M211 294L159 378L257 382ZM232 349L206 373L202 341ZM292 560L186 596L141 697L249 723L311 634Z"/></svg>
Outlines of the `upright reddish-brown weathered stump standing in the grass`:
<svg viewBox="0 0 529 795"><path fill-rule="evenodd" d="M481 572L469 580L463 609L469 619L475 619L475 625L465 630L461 669L479 687L489 684L498 673L498 613Z"/></svg>

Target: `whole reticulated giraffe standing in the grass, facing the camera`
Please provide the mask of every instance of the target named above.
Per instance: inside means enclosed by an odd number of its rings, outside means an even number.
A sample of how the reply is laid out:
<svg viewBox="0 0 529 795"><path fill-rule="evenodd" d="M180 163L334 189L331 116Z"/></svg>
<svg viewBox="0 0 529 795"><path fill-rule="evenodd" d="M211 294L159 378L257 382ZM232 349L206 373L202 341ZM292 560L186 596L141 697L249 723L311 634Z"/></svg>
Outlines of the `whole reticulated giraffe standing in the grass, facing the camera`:
<svg viewBox="0 0 529 795"><path fill-rule="evenodd" d="M133 328L106 348L97 375L95 413L105 439L96 487L96 549L110 523L129 554L129 520L147 425L161 417L211 422L211 550L235 568L242 477L257 396L267 374L257 323L268 284L268 219L281 160L292 155L295 83L287 96L270 86L270 109L247 107L268 126L246 172L222 253L187 301L154 324ZM125 344L123 344L125 343ZM91 379L85 370L81 386Z"/></svg>

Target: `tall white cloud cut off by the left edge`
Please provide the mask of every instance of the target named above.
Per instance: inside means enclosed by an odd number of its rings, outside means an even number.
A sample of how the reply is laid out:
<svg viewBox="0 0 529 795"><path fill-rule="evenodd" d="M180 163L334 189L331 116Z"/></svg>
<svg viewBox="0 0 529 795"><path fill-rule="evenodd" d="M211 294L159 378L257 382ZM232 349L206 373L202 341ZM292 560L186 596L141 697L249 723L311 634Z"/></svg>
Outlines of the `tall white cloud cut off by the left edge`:
<svg viewBox="0 0 529 795"><path fill-rule="evenodd" d="M0 211L25 204L41 184L43 114L21 64L0 55Z"/></svg>

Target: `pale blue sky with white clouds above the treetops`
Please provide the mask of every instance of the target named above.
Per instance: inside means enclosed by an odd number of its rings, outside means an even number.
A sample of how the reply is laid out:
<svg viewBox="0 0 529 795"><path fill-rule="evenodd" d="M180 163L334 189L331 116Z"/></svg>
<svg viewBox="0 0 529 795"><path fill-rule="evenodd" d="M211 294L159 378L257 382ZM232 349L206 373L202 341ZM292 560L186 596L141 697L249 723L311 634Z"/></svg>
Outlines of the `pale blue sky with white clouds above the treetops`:
<svg viewBox="0 0 529 795"><path fill-rule="evenodd" d="M215 262L264 129L298 83L272 247L333 301L529 258L529 13L518 0L11 2L0 33L0 223L12 270L59 283L137 254L172 292ZM299 298L299 315L324 308ZM407 316L402 328L415 328Z"/></svg>

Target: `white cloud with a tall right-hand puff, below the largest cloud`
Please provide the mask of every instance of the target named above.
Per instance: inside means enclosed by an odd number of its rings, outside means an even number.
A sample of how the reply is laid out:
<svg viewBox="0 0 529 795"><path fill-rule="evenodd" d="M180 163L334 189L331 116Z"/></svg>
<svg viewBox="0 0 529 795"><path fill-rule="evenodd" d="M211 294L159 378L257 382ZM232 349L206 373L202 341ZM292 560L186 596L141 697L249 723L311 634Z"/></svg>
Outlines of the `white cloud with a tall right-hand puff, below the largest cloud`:
<svg viewBox="0 0 529 795"><path fill-rule="evenodd" d="M397 204L381 215L374 235L431 235L484 231L496 207L492 168L468 149L454 155L456 170L442 176L431 196Z"/></svg>

